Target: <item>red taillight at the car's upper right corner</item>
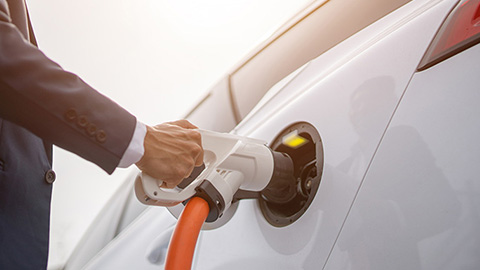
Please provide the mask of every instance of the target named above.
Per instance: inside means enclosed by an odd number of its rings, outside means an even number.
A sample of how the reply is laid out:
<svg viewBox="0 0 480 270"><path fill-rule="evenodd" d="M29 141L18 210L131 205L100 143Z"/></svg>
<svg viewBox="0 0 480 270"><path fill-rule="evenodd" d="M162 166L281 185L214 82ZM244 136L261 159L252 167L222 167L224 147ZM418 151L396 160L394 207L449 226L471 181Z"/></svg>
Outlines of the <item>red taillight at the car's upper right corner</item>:
<svg viewBox="0 0 480 270"><path fill-rule="evenodd" d="M463 0L450 12L419 65L427 69L480 42L480 0Z"/></svg>

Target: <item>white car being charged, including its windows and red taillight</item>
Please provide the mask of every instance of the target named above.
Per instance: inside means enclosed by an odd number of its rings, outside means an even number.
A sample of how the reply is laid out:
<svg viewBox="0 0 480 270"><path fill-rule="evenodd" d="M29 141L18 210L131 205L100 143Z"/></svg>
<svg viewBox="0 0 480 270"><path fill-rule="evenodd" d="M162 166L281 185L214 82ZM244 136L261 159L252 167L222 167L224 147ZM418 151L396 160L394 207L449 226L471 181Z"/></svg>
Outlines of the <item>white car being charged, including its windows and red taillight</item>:
<svg viewBox="0 0 480 270"><path fill-rule="evenodd" d="M319 0L187 115L292 156L299 195L241 200L193 269L480 269L480 1ZM297 130L309 140L282 149ZM163 269L176 219L130 185L66 269ZM122 195L123 194L123 195Z"/></svg>

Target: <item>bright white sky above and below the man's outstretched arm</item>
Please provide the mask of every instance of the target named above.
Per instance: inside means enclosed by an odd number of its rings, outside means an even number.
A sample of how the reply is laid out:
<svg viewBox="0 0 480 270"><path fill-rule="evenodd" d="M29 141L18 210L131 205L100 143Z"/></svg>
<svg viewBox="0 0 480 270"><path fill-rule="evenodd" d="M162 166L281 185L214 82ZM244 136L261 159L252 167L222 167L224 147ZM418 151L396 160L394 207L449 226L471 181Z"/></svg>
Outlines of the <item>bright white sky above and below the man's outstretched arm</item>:
<svg viewBox="0 0 480 270"><path fill-rule="evenodd" d="M40 48L147 124L185 115L311 0L27 0ZM55 149L49 268L65 263L131 169ZM133 179L132 179L133 181Z"/></svg>

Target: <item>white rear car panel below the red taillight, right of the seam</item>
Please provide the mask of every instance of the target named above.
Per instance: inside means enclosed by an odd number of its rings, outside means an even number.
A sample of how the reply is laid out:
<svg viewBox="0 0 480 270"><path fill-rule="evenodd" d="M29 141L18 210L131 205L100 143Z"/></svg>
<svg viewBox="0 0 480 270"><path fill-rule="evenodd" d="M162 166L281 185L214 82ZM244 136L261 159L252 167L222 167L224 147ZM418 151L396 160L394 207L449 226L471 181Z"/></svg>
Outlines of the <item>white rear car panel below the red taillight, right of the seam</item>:
<svg viewBox="0 0 480 270"><path fill-rule="evenodd" d="M327 269L478 268L478 59L480 45L415 75Z"/></svg>

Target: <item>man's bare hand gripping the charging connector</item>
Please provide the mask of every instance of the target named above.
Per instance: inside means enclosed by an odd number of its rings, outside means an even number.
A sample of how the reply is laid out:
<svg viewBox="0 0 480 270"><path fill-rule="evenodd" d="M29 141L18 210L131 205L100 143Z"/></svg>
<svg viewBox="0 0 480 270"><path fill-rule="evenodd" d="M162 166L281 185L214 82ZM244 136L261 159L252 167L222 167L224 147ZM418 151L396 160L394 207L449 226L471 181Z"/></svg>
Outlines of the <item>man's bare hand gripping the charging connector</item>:
<svg viewBox="0 0 480 270"><path fill-rule="evenodd" d="M137 167L163 180L162 187L174 188L203 164L203 148L197 127L187 120L147 126L142 159Z"/></svg>

